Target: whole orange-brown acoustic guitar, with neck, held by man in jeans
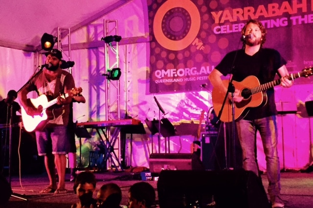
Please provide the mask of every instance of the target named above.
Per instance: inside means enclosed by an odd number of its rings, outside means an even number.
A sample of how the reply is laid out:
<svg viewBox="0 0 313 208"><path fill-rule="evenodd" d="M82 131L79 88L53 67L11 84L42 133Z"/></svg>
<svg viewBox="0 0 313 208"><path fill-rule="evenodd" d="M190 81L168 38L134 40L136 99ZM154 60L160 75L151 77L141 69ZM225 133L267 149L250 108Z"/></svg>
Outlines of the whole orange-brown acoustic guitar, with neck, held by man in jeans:
<svg viewBox="0 0 313 208"><path fill-rule="evenodd" d="M309 77L313 75L313 69L303 69L302 71L291 74L288 76L289 80L294 80L299 77ZM228 86L228 80L222 81L224 86ZM249 108L258 107L267 102L266 90L280 84L280 79L274 80L269 83L260 84L258 78L255 76L248 76L242 82L233 81L235 89L239 89L241 96L244 99L241 102L234 103L235 108L235 120L242 119L246 116L249 111ZM212 103L214 111L217 115L220 115L222 109L223 101L225 94L222 93L219 89L213 88L212 90ZM221 114L221 121L223 122L232 122L232 109L231 109L231 100L227 98L223 112Z"/></svg>

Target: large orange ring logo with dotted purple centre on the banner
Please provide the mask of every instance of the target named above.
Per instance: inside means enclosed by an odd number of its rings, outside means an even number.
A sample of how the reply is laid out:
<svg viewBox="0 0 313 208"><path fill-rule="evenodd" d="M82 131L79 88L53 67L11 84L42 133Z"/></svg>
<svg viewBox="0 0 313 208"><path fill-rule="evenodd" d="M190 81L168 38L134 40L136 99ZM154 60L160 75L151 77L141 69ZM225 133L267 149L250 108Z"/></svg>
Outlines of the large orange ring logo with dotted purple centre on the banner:
<svg viewBox="0 0 313 208"><path fill-rule="evenodd" d="M196 40L200 24L199 10L191 0L167 0L156 11L153 30L162 47L179 51Z"/></svg>

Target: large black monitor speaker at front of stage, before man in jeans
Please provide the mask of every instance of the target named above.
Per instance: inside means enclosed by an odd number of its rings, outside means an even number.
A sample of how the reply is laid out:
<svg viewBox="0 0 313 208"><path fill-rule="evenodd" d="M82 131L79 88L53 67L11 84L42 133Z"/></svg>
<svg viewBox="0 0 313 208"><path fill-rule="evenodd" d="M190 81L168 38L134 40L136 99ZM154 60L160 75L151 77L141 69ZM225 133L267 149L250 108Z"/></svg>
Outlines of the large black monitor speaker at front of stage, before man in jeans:
<svg viewBox="0 0 313 208"><path fill-rule="evenodd" d="M160 208L269 208L261 180L245 170L163 170L157 181Z"/></svg>

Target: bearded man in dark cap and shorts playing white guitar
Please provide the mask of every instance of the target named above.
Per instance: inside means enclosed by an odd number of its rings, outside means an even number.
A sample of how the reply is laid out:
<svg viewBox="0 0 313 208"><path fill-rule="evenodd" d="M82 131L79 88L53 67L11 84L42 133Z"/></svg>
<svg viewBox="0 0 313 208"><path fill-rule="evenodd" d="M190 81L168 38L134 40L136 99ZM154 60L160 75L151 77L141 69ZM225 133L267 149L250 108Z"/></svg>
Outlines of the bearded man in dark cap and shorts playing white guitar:
<svg viewBox="0 0 313 208"><path fill-rule="evenodd" d="M49 185L40 192L66 193L66 154L70 145L67 124L70 120L70 104L73 101L84 103L85 98L80 94L81 88L76 92L72 75L61 69L62 52L52 49L46 52L45 56L45 69L31 79L20 92L22 120L26 130L36 131L38 154L45 156ZM27 99L30 91L37 92L40 102ZM38 126L29 126L37 121ZM55 168L59 176L58 184Z"/></svg>

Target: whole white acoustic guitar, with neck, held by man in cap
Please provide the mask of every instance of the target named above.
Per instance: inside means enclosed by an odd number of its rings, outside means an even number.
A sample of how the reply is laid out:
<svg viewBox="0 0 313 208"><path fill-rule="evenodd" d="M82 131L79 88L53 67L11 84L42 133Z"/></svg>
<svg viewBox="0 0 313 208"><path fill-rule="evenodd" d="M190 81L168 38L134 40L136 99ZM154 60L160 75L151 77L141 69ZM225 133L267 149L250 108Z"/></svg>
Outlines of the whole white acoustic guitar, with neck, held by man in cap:
<svg viewBox="0 0 313 208"><path fill-rule="evenodd" d="M75 96L79 95L82 92L82 88L73 88L69 92L67 92L65 95L61 96L62 98L67 98L68 96ZM52 101L48 102L47 97L43 94L39 96L38 98L34 99L27 99L27 103L33 104L34 107L42 110L42 113L40 115L34 115L30 116L26 113L25 109L21 107L21 115L22 115L22 121L23 126L26 131L32 132L35 130L41 130L45 127L47 121L47 113L46 109L54 104L57 103L57 98L53 99Z"/></svg>

